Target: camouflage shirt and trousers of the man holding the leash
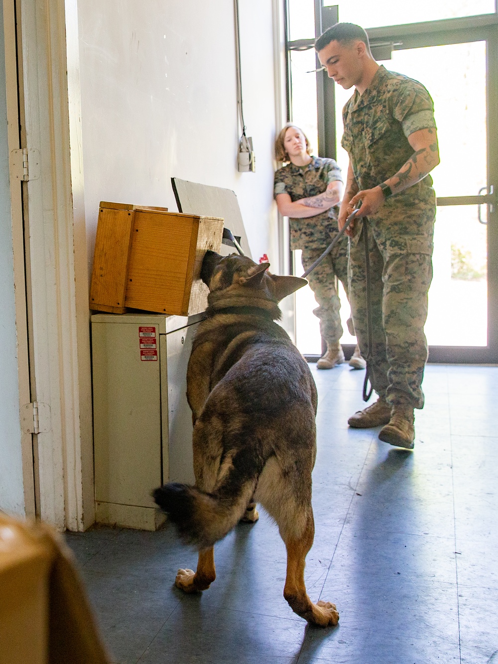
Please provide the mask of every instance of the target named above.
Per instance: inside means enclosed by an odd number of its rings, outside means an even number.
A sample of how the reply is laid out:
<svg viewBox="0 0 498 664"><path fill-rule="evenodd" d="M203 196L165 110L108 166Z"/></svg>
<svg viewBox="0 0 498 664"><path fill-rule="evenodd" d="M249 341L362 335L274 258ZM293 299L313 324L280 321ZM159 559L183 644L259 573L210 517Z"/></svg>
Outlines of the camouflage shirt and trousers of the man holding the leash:
<svg viewBox="0 0 498 664"><path fill-rule="evenodd" d="M397 173L413 154L407 137L435 128L434 108L422 84L378 68L369 88L343 109L342 145L359 189ZM371 382L392 405L422 408L427 361L424 324L432 280L436 197L432 178L387 199L368 220L373 348ZM364 221L365 223L365 221ZM361 353L367 357L365 244L357 222L349 250L349 294Z"/></svg>

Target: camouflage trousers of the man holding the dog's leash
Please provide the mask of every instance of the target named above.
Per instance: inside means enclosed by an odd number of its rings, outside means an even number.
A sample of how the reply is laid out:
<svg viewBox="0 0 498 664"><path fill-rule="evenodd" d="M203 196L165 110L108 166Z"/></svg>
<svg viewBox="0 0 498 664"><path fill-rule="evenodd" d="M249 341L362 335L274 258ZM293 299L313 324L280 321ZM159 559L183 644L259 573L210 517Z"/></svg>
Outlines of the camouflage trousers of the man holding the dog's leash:
<svg viewBox="0 0 498 664"><path fill-rule="evenodd" d="M367 222L371 349L367 336L365 242L363 232L358 238L360 228L349 248L351 309L361 354L369 365L371 384L390 404L414 408L424 406L421 385L428 355L424 325L432 280L434 213L429 210L425 216L427 223L422 224L420 234L412 236L406 232L397 234L392 220Z"/></svg>

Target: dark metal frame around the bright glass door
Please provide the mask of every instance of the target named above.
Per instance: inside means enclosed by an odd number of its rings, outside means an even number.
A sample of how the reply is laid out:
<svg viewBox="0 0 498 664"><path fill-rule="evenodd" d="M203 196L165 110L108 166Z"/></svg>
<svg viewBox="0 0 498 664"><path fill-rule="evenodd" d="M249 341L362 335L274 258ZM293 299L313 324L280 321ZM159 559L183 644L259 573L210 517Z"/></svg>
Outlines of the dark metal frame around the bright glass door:
<svg viewBox="0 0 498 664"><path fill-rule="evenodd" d="M323 7L323 0L315 2L315 31L321 32L333 25L337 16L337 6ZM286 7L288 19L288 11ZM498 15L480 15L459 19L444 19L424 23L410 23L388 27L367 29L371 48L385 54L386 49L405 50L424 46L443 46L472 41L486 41L487 48L487 184L492 185L493 194L475 197L440 197L436 205L487 205L487 331L486 347L473 346L434 346L429 347L430 363L498 363L498 133L491 127L498 126ZM286 42L287 82L288 82L288 117L291 118L291 50L313 48L313 39L301 39ZM380 58L379 58L380 59ZM321 157L336 157L335 137L335 97L334 83L321 70L317 59L317 117L318 117L318 153ZM327 112L325 112L327 109ZM351 348L345 347L348 355ZM316 361L318 355L307 355L307 359Z"/></svg>

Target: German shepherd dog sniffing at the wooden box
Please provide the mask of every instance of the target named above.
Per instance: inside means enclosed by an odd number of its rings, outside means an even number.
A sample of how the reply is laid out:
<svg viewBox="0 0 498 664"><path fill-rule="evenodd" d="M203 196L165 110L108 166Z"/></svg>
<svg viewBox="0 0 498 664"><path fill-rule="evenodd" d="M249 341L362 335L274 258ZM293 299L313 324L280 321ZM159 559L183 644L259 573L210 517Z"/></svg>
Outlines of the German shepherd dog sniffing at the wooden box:
<svg viewBox="0 0 498 664"><path fill-rule="evenodd" d="M280 319L278 302L306 280L275 276L270 264L207 252L209 288L187 370L193 413L195 486L168 483L153 497L187 544L197 571L178 570L187 593L216 578L213 545L240 519L256 521L256 503L278 524L287 549L284 598L307 622L336 625L335 604L309 599L305 557L315 534L311 471L316 456L317 390Z"/></svg>

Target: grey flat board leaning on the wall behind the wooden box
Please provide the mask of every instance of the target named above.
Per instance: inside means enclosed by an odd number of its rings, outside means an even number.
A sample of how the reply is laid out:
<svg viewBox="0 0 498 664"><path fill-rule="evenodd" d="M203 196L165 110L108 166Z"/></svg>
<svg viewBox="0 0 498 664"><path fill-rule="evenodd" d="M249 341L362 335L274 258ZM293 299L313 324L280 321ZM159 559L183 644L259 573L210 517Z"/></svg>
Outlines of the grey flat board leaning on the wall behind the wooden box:
<svg viewBox="0 0 498 664"><path fill-rule="evenodd" d="M251 256L246 229L238 207L237 197L231 189L210 187L197 182L171 178L179 212L184 214L201 214L222 216L225 228L229 228L235 236L240 236L240 246L246 256ZM221 254L233 254L236 249L222 244Z"/></svg>

